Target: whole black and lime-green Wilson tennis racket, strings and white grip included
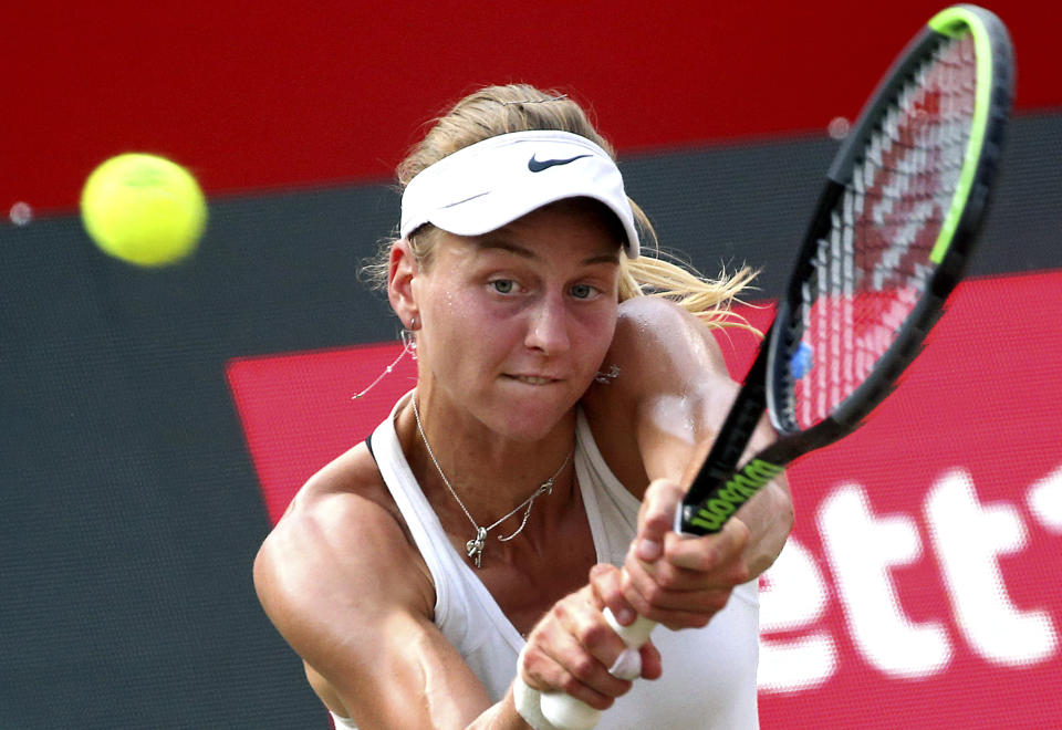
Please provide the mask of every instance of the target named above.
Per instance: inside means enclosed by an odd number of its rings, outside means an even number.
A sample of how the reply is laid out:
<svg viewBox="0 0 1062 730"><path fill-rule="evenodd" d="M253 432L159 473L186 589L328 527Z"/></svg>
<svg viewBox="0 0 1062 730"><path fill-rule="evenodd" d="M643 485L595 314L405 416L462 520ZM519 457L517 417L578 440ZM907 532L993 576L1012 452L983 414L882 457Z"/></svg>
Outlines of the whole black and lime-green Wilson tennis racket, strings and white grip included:
<svg viewBox="0 0 1062 730"><path fill-rule="evenodd" d="M827 173L774 322L677 532L718 532L785 465L851 434L893 390L974 250L1013 73L1006 27L969 4L934 15L894 62ZM779 438L738 468L764 409ZM652 628L638 619L618 632L641 646ZM564 693L543 695L541 709L563 730L600 716Z"/></svg>

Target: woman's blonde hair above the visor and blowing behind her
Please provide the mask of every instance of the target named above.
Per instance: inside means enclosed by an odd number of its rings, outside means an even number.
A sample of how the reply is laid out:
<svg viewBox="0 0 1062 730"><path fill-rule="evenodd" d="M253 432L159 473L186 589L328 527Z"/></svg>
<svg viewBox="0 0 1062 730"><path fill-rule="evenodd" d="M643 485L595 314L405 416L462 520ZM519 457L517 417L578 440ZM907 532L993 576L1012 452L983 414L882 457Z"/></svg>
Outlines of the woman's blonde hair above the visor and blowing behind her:
<svg viewBox="0 0 1062 730"><path fill-rule="evenodd" d="M591 124L583 108L566 94L540 91L528 84L487 86L459 101L431 128L398 165L399 190L420 170L469 145L510 132L551 129L577 134L596 143L615 159L612 145ZM631 200L642 238L642 254L627 259L621 254L620 301L634 296L663 296L676 301L709 326L751 327L730 312L730 304L756 277L742 267L728 275L709 279L688 265L662 257L656 232L645 212ZM414 257L420 265L430 265L437 229L424 226L409 237ZM378 289L386 289L388 260L395 238L382 242L376 258L363 268L363 274Z"/></svg>

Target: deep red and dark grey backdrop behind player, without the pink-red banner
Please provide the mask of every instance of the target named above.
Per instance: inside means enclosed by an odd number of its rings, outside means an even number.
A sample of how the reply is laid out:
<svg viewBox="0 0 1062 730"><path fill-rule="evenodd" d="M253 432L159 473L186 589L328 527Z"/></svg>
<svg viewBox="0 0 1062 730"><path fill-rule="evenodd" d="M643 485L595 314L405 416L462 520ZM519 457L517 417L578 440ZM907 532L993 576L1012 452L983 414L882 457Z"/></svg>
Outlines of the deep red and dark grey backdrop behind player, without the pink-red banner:
<svg viewBox="0 0 1062 730"><path fill-rule="evenodd" d="M357 268L397 220L389 169L435 112L479 83L572 92L665 246L709 272L763 267L768 298L836 144L826 124L937 9L634 8L10 13L0 209L35 216L0 223L0 728L326 727L253 596L269 518L225 368L394 337ZM982 275L1062 268L1060 12L999 10L1019 115ZM137 270L82 231L84 178L131 149L211 195L191 261Z"/></svg>

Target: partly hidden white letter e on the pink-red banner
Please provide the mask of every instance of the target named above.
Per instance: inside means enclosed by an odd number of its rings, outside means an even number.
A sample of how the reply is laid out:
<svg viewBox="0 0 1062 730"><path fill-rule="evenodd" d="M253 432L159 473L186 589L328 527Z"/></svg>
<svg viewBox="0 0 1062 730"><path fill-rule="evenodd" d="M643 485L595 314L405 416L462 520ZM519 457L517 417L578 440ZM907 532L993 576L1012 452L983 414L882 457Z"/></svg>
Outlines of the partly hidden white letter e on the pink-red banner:
<svg viewBox="0 0 1062 730"><path fill-rule="evenodd" d="M826 609L825 581L812 554L795 540L785 543L760 593L760 630L799 630L812 626ZM810 689L826 681L837 667L830 632L813 630L791 640L760 642L761 688L770 691Z"/></svg>

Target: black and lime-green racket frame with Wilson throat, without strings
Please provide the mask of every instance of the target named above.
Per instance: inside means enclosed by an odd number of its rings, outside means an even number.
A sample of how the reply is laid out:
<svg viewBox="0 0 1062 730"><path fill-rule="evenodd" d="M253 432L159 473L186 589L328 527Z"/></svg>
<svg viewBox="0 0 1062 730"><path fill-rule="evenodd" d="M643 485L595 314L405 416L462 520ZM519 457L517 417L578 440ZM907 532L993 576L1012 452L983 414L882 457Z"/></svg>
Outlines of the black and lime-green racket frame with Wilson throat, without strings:
<svg viewBox="0 0 1062 730"><path fill-rule="evenodd" d="M801 288L812 268L819 240L830 229L831 211L843 195L845 182L851 178L867 139L877 131L883 109L893 103L896 91L925 62L927 53L940 43L941 36L954 38L966 30L974 36L979 82L962 173L930 254L937 268L866 380L823 420L801 429L792 414L787 411L793 378L789 355L794 335L801 332L790 326L790 322L799 312ZM1013 59L1007 29L993 13L976 6L954 6L934 15L893 62L827 170L826 185L820 194L774 321L676 514L676 531L687 534L717 532L745 501L788 463L854 431L892 393L904 371L922 351L926 336L944 313L948 295L967 268L999 165L1012 84ZM779 438L736 471L764 410L770 414Z"/></svg>

